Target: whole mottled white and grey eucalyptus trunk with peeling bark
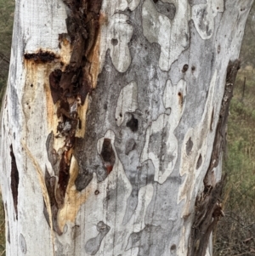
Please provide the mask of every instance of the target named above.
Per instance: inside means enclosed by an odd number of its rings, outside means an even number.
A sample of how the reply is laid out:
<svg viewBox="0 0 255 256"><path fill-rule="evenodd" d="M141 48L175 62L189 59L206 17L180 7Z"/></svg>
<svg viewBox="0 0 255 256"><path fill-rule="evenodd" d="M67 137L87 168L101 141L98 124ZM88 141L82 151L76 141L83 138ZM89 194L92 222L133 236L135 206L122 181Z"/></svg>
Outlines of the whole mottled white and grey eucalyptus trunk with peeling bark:
<svg viewBox="0 0 255 256"><path fill-rule="evenodd" d="M1 122L7 255L212 255L252 0L17 0Z"/></svg>

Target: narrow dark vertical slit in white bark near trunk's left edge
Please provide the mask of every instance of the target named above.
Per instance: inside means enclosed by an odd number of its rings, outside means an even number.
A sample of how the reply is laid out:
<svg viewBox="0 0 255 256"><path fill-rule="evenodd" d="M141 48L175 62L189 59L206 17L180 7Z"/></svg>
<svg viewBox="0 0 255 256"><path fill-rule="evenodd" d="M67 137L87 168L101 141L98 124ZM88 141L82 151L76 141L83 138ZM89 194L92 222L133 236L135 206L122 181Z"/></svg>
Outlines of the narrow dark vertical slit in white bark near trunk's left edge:
<svg viewBox="0 0 255 256"><path fill-rule="evenodd" d="M14 156L13 145L10 145L10 156L11 156L11 190L14 199L14 209L16 213L16 219L18 219L18 188L19 188L19 171L16 164L16 158Z"/></svg>

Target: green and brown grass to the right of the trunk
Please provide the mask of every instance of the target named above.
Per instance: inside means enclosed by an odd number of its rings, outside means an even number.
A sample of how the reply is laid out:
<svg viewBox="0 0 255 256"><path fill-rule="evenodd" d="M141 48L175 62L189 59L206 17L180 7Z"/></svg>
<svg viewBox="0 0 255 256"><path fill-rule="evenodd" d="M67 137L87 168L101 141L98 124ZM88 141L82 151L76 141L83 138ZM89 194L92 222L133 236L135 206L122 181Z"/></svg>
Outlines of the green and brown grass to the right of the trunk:
<svg viewBox="0 0 255 256"><path fill-rule="evenodd" d="M244 81L246 82L244 83ZM224 173L225 218L214 239L213 255L255 255L255 71L239 71L230 104Z"/></svg>

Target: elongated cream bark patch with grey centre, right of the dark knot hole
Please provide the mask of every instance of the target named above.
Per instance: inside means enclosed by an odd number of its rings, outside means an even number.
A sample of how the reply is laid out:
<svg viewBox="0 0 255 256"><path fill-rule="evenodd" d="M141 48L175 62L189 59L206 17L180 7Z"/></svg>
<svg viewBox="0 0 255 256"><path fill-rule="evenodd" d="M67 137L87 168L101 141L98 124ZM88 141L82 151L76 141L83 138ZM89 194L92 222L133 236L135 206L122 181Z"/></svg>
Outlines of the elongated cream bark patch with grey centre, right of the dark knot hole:
<svg viewBox="0 0 255 256"><path fill-rule="evenodd" d="M172 173L177 155L178 141L173 131L184 112L184 98L186 95L186 82L182 79L176 86L171 80L163 93L163 103L170 113L161 114L156 121L151 122L147 129L144 150L141 162L151 160L155 168L154 180L160 184L166 181Z"/></svg>

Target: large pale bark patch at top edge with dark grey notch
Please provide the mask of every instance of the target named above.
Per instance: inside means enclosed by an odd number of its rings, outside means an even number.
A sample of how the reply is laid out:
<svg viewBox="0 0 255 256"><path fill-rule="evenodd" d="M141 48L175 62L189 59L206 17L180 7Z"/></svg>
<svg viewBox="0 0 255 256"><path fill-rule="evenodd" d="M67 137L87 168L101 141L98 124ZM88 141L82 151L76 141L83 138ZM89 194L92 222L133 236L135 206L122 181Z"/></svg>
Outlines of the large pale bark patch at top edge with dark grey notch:
<svg viewBox="0 0 255 256"><path fill-rule="evenodd" d="M145 0L142 9L144 37L150 43L159 43L161 46L159 66L162 71L168 71L173 61L189 46L190 4L186 0L173 2L173 19L156 8L158 5L151 0ZM182 26L179 26L180 23Z"/></svg>

